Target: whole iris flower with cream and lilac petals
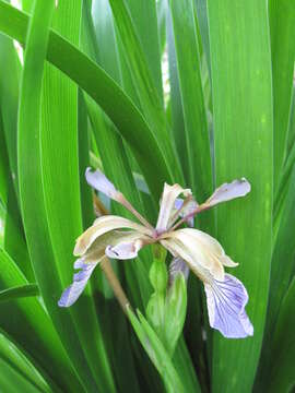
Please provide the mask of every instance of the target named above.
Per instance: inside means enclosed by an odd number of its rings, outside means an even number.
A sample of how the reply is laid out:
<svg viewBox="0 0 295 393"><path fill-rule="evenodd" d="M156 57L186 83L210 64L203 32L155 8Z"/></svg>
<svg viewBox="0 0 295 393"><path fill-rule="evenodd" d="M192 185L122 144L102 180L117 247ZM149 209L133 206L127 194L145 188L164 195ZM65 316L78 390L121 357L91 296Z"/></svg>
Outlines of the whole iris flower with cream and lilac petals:
<svg viewBox="0 0 295 393"><path fill-rule="evenodd" d="M92 272L106 257L133 259L143 247L158 242L174 257L172 275L179 271L187 275L189 267L202 281L212 327L232 338L253 334L245 310L248 302L247 290L239 279L224 271L225 266L235 267L237 263L225 254L219 241L210 235L191 227L179 228L184 223L192 225L193 216L204 210L246 195L250 191L250 184L245 178L222 184L200 205L193 200L189 189L165 183L157 223L153 227L104 174L87 168L85 176L90 186L123 205L139 223L116 215L105 215L95 219L78 238L73 251L79 257L74 262L78 273L73 275L72 285L63 291L59 300L60 307L69 307L75 302Z"/></svg>

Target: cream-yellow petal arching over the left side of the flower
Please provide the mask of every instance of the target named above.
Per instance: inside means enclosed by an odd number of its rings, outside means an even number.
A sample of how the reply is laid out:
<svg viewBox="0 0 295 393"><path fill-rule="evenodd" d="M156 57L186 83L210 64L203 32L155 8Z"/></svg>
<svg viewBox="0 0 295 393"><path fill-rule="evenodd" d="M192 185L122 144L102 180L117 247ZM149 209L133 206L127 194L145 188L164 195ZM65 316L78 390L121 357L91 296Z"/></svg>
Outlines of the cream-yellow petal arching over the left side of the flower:
<svg viewBox="0 0 295 393"><path fill-rule="evenodd" d="M83 255L93 242L98 239L101 236L106 233L113 231L115 229L129 228L133 229L140 234L152 236L152 231L137 223L131 222L130 219L119 217L119 216L103 216L97 218L93 226L86 229L78 239L74 248L74 255Z"/></svg>

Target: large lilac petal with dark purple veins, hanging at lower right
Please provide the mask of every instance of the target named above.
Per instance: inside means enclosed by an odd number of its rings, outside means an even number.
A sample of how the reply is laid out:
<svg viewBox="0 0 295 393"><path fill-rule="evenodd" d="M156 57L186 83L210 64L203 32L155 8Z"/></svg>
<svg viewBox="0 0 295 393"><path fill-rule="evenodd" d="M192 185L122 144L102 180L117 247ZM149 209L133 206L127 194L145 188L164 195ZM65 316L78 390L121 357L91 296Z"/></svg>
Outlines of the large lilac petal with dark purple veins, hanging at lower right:
<svg viewBox="0 0 295 393"><path fill-rule="evenodd" d="M224 282L205 283L205 295L211 327L227 338L253 335L253 326L245 311L248 294L239 279L225 274Z"/></svg>

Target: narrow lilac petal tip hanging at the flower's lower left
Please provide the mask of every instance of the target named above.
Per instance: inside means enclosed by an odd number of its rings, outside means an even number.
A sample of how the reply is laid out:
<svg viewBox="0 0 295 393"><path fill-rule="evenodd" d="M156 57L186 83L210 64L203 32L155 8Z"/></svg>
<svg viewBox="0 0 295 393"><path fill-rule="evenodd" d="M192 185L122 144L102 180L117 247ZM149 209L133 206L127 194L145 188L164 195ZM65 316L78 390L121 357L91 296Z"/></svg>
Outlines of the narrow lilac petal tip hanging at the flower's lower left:
<svg viewBox="0 0 295 393"><path fill-rule="evenodd" d="M59 307L70 307L76 301L84 290L97 263L98 261L96 263L83 263L82 258L75 261L74 267L81 267L82 270L73 275L72 285L62 293L61 298L58 301Z"/></svg>

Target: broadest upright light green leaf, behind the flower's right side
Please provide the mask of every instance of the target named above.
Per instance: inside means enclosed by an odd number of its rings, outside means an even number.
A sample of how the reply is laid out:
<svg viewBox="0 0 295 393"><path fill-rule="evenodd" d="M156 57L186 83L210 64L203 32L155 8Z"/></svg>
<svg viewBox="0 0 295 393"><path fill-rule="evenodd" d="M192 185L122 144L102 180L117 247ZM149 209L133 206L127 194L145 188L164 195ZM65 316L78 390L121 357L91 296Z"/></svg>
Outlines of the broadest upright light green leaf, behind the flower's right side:
<svg viewBox="0 0 295 393"><path fill-rule="evenodd" d="M240 263L253 337L215 335L213 392L250 392L264 326L272 228L272 90L267 2L208 0L216 183L245 176L248 200L217 210L217 237ZM225 109L226 108L226 109Z"/></svg>

